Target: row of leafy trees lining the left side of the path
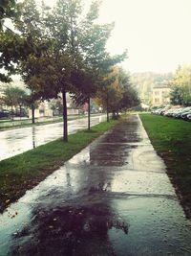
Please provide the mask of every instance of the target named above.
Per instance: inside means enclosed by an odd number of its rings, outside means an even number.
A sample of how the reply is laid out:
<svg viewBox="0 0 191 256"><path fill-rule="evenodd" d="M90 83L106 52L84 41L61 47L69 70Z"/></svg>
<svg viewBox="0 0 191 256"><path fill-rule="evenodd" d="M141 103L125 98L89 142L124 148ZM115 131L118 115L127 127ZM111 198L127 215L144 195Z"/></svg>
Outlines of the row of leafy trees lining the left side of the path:
<svg viewBox="0 0 191 256"><path fill-rule="evenodd" d="M13 6L16 12L10 12ZM99 6L100 1L93 1L84 15L81 0L57 0L52 10L43 1L40 9L34 0L17 5L12 1L0 15L0 68L6 71L0 80L10 81L11 74L19 73L31 90L32 112L36 100L61 94L64 141L68 141L66 93L76 104L97 98L114 113L138 103L129 76L115 67L126 52L111 57L106 51L114 24L96 23ZM15 32L4 26L6 15L11 15ZM90 115L88 124L90 128Z"/></svg>

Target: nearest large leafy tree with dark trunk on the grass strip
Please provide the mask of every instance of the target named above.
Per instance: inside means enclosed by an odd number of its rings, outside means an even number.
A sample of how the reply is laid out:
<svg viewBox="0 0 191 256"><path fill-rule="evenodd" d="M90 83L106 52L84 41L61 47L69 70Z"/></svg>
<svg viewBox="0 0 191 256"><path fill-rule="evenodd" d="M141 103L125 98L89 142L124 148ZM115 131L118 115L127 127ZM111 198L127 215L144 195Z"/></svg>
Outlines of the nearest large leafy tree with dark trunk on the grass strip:
<svg viewBox="0 0 191 256"><path fill-rule="evenodd" d="M44 13L41 22L46 27L41 40L44 38L49 47L24 62L24 69L30 70L26 81L34 86L35 97L50 99L62 94L64 141L68 140L66 93L90 99L103 71L118 61L118 57L110 58L105 52L111 25L91 28L93 20L83 20L80 0L58 0L53 12ZM84 24L89 24L86 31ZM84 42L90 38L91 47L86 47Z"/></svg>

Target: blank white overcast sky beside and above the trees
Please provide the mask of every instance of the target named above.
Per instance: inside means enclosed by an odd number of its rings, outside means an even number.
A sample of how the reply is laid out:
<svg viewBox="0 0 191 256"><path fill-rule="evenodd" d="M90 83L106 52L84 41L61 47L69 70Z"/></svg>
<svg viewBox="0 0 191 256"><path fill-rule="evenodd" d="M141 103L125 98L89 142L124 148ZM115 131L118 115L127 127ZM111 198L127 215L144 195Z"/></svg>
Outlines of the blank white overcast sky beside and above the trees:
<svg viewBox="0 0 191 256"><path fill-rule="evenodd" d="M99 20L115 21L108 50L127 49L123 66L131 72L174 72L191 63L191 0L103 0Z"/></svg>

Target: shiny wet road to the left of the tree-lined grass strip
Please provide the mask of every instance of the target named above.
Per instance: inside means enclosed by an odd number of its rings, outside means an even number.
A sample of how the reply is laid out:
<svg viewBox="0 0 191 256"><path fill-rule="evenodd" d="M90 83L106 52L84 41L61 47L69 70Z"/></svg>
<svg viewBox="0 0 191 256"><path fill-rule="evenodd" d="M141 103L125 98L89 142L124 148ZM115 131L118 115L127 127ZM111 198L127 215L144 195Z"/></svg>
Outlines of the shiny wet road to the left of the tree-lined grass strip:
<svg viewBox="0 0 191 256"><path fill-rule="evenodd" d="M106 120L105 115L92 116L91 126ZM69 134L87 128L87 118L68 121ZM62 137L63 124L56 123L32 128L15 128L0 131L0 161L24 151L32 150L42 144Z"/></svg>

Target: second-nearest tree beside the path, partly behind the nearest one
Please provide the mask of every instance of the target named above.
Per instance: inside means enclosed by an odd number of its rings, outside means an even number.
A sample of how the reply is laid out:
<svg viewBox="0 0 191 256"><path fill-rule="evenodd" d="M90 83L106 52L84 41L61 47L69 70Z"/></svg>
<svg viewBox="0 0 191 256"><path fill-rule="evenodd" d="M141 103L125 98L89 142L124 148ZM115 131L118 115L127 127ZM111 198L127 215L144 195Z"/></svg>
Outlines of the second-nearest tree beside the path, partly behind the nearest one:
<svg viewBox="0 0 191 256"><path fill-rule="evenodd" d="M126 52L122 55L110 57L105 51L105 46L114 24L95 24L98 17L100 1L94 1L86 19L82 22L79 34L80 49L83 55L83 70L75 81L79 84L79 93L75 95L78 104L88 103L88 129L90 129L90 98L96 97L96 92L106 89L105 77L111 72L114 64L126 58Z"/></svg>

